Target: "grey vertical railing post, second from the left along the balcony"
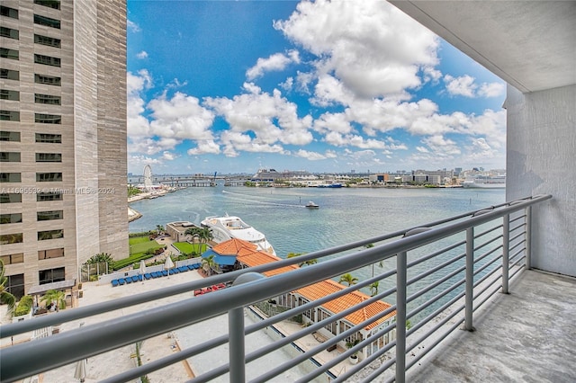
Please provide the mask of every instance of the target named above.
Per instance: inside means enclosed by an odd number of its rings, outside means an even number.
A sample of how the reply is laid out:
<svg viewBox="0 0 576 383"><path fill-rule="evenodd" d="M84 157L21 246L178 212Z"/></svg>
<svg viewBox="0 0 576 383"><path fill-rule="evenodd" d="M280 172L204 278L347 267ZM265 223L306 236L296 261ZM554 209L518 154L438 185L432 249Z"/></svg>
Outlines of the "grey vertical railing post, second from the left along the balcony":
<svg viewBox="0 0 576 383"><path fill-rule="evenodd" d="M396 255L396 381L406 379L406 281L407 254Z"/></svg>

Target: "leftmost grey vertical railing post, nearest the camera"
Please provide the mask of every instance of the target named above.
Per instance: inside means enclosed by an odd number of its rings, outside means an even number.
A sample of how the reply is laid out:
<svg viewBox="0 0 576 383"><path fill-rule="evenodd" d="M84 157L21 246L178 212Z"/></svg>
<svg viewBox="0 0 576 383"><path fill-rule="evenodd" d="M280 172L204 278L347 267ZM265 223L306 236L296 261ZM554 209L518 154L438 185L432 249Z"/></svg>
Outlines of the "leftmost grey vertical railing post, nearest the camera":
<svg viewBox="0 0 576 383"><path fill-rule="evenodd" d="M230 383L246 380L246 352L244 343L244 307L228 312Z"/></svg>

